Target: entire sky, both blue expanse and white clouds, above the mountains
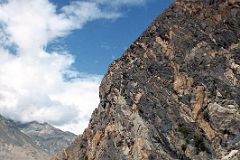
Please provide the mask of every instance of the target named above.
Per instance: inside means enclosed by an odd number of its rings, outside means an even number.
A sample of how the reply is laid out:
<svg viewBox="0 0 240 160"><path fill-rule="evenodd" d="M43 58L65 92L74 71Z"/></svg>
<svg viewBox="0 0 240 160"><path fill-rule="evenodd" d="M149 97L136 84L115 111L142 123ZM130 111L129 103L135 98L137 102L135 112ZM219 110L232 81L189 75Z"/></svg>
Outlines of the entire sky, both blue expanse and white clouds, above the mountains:
<svg viewBox="0 0 240 160"><path fill-rule="evenodd" d="M108 65L171 0L0 0L0 114L80 134Z"/></svg>

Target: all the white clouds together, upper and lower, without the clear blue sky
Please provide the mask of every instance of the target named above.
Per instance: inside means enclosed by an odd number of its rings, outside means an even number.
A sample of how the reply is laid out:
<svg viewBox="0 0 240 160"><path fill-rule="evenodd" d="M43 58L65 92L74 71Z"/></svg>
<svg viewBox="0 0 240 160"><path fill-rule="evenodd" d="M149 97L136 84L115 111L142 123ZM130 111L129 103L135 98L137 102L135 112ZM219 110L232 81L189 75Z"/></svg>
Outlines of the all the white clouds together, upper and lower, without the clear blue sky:
<svg viewBox="0 0 240 160"><path fill-rule="evenodd" d="M0 113L81 133L97 107L102 75L72 69L67 50L47 45L97 19L117 19L121 7L145 0L73 1L57 8L48 0L0 0Z"/></svg>

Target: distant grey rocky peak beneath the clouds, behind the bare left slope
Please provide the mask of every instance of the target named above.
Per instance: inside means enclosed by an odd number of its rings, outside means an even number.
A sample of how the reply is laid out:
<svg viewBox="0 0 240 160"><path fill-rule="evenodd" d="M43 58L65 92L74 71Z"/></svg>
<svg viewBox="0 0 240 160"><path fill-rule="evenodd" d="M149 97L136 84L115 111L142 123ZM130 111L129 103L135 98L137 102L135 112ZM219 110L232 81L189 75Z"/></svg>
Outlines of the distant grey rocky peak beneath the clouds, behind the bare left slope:
<svg viewBox="0 0 240 160"><path fill-rule="evenodd" d="M49 154L62 151L76 138L73 133L61 131L48 123L38 123L36 121L30 123L18 122L16 126Z"/></svg>

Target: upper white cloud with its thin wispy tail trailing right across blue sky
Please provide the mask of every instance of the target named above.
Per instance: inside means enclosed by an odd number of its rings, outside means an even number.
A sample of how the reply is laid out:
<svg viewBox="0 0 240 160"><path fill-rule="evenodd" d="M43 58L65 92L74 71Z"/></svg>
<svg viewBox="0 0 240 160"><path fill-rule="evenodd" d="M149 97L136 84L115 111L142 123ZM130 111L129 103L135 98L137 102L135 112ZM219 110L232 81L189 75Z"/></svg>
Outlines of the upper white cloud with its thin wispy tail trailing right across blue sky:
<svg viewBox="0 0 240 160"><path fill-rule="evenodd" d="M24 50L42 48L54 38L63 37L89 21L118 15L102 11L95 3L83 1L64 6L60 14L48 0L9 0L0 9L0 19L7 24L6 33Z"/></svg>

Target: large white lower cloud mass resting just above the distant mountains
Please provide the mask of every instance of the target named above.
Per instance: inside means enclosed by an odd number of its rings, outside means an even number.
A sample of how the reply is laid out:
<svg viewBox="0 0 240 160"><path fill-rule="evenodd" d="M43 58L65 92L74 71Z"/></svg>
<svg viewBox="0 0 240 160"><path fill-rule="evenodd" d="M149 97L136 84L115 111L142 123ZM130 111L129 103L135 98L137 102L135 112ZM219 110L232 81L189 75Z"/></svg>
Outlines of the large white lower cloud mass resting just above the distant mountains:
<svg viewBox="0 0 240 160"><path fill-rule="evenodd" d="M70 55L42 52L19 56L0 50L0 112L80 133L98 104L101 76L72 71Z"/></svg>

